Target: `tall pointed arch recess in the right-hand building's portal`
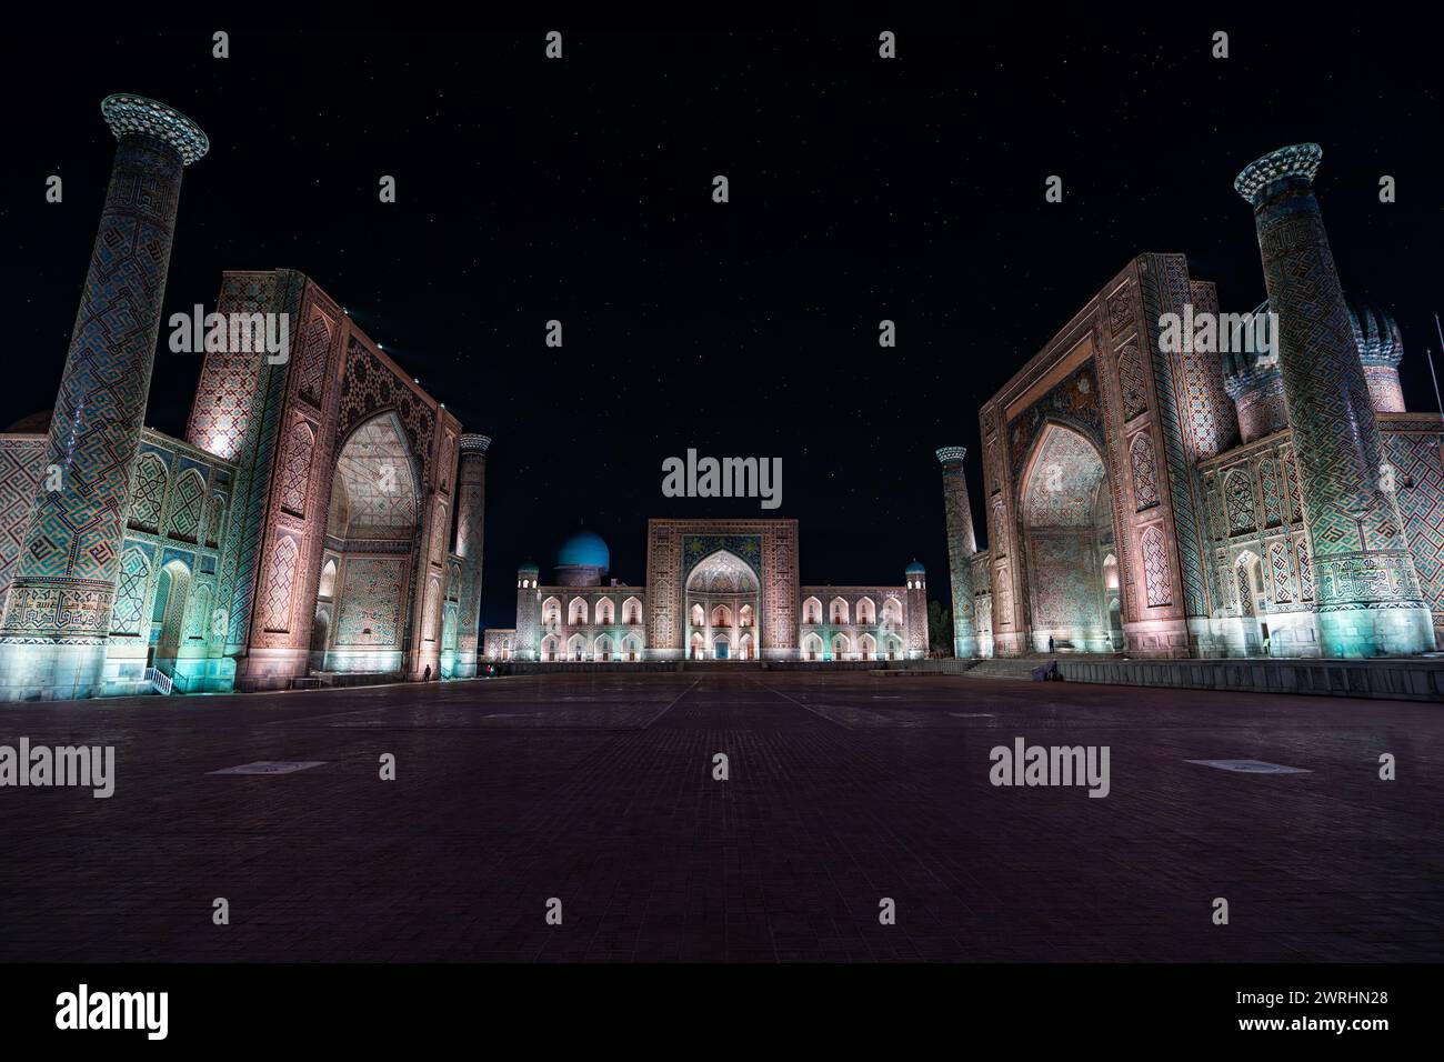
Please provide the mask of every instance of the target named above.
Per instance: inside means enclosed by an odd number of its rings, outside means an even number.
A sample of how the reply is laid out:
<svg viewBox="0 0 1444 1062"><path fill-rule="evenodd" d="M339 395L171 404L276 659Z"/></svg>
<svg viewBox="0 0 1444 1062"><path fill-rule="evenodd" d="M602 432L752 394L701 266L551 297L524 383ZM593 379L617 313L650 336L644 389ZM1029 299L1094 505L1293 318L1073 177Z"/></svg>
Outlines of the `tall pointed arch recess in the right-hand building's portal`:
<svg viewBox="0 0 1444 1062"><path fill-rule="evenodd" d="M1028 636L1034 652L1110 653L1122 642L1108 470L1080 432L1048 423L1022 475ZM1112 571L1108 561L1113 559Z"/></svg>

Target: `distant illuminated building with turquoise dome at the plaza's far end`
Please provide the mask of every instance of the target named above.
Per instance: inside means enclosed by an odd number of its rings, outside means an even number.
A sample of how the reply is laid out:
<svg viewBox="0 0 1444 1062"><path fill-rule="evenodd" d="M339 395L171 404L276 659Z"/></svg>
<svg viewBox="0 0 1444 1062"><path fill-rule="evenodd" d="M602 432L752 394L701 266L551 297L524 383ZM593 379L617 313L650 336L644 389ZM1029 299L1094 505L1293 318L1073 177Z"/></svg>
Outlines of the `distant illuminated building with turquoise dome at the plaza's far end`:
<svg viewBox="0 0 1444 1062"><path fill-rule="evenodd" d="M608 579L591 532L554 579L517 571L517 626L488 629L488 660L904 660L927 656L927 574L901 587L803 587L796 520L650 520L647 582Z"/></svg>

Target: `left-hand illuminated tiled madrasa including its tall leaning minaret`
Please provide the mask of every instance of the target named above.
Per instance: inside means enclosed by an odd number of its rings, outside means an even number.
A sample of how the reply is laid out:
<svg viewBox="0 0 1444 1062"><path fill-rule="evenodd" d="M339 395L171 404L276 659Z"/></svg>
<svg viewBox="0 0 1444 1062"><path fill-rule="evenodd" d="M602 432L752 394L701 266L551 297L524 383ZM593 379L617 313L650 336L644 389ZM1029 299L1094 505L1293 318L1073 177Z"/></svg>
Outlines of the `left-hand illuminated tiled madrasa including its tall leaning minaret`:
<svg viewBox="0 0 1444 1062"><path fill-rule="evenodd" d="M289 350L205 353L186 436L142 426L205 137L137 97L105 116L116 172L56 407L0 435L0 695L475 673L490 441L313 280L225 273L217 312L286 315Z"/></svg>

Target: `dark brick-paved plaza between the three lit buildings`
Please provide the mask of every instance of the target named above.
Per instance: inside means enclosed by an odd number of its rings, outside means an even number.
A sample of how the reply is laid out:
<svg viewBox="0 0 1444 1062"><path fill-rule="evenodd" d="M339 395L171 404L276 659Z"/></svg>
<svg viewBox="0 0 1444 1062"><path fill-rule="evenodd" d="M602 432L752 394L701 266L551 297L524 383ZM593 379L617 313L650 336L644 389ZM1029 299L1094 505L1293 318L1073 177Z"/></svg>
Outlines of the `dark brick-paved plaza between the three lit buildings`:
<svg viewBox="0 0 1444 1062"><path fill-rule="evenodd" d="M553 675L0 707L22 735L117 785L0 789L0 959L1444 958L1430 704ZM1109 796L993 787L1015 737L1109 746ZM211 773L266 760L322 764Z"/></svg>

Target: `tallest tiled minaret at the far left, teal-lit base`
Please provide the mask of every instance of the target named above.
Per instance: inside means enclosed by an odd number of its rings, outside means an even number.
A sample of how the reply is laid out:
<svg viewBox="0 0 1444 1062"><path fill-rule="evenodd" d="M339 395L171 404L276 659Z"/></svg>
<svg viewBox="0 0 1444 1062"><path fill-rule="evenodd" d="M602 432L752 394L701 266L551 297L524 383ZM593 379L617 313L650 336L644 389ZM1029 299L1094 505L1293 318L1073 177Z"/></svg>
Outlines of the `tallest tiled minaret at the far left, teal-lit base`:
<svg viewBox="0 0 1444 1062"><path fill-rule="evenodd" d="M4 699L103 692L180 172L209 147L199 126L153 100L108 95L100 110L116 162L46 442L59 488L30 510L0 621Z"/></svg>

